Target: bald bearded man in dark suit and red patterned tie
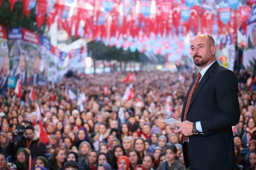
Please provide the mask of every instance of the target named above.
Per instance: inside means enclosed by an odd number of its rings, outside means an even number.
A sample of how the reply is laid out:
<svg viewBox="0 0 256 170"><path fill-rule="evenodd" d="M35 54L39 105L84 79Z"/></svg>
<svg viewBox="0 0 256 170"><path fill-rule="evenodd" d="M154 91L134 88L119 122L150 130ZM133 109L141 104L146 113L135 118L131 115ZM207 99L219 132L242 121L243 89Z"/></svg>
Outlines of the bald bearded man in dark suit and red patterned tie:
<svg viewBox="0 0 256 170"><path fill-rule="evenodd" d="M232 126L240 117L238 81L234 73L216 61L216 46L209 35L197 35L191 42L194 63L199 72L194 78L182 110L185 166L190 170L236 168Z"/></svg>

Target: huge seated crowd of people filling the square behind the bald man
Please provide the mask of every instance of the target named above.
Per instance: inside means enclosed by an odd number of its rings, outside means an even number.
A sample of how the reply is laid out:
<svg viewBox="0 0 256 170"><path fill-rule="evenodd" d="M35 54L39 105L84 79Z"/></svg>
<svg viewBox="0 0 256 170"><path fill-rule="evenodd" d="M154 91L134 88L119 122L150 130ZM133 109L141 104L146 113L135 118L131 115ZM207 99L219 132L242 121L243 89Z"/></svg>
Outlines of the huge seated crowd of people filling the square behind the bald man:
<svg viewBox="0 0 256 170"><path fill-rule="evenodd" d="M233 131L238 169L254 170L256 92L248 90L247 73L239 75L241 117ZM0 97L0 170L184 170L181 135L171 133L163 119L181 120L197 70L136 72L134 98L123 100L127 74L35 85L35 101L31 86L22 86L21 98L8 89ZM47 142L39 140L40 120Z"/></svg>

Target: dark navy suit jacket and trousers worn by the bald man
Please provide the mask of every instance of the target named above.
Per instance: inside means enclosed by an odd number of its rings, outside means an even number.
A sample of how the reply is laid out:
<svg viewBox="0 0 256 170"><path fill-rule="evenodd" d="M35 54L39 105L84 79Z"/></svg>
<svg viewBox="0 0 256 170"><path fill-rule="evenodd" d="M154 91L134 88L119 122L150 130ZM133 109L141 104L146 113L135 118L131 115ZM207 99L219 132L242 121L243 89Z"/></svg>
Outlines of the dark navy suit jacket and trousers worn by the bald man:
<svg viewBox="0 0 256 170"><path fill-rule="evenodd" d="M182 121L191 84L184 101ZM189 136L183 147L190 170L225 170L236 166L232 126L239 121L238 81L236 75L215 61L203 75L192 96L187 120L201 121L203 134ZM188 158L189 153L189 158Z"/></svg>

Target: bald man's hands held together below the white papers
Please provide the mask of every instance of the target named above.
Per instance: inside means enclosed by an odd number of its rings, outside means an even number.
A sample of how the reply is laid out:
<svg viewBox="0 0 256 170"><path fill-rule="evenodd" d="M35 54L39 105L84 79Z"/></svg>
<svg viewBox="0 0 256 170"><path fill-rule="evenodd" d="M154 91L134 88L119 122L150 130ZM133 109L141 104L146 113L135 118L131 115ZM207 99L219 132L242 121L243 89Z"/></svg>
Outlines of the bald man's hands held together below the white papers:
<svg viewBox="0 0 256 170"><path fill-rule="evenodd" d="M175 130L174 133L177 135L185 135L185 136L191 136L193 135L192 130L193 130L193 122L190 121L183 121L182 124L175 123L173 124L174 126L178 126L179 129Z"/></svg>

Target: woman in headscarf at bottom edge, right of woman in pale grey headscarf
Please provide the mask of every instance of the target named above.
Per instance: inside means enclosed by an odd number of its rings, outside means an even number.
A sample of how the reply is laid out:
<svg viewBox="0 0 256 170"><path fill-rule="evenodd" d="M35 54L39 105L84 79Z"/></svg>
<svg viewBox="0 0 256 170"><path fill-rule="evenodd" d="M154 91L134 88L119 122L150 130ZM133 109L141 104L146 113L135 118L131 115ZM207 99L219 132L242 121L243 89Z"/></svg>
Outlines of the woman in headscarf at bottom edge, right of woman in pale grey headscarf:
<svg viewBox="0 0 256 170"><path fill-rule="evenodd" d="M84 159L82 162L79 163L79 167L81 169L90 169L90 170L96 170L97 167L97 156L98 153L95 150L90 150L88 153L88 157Z"/></svg>

